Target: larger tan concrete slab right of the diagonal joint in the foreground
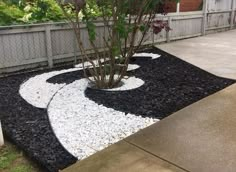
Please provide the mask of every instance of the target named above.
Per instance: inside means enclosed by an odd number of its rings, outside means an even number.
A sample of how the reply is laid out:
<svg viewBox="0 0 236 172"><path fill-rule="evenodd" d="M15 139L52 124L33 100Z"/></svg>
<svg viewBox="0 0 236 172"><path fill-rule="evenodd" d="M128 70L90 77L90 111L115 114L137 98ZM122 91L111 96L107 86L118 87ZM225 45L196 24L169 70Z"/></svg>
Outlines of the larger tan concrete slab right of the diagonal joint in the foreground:
<svg viewBox="0 0 236 172"><path fill-rule="evenodd" d="M191 172L236 171L236 85L126 139Z"/></svg>

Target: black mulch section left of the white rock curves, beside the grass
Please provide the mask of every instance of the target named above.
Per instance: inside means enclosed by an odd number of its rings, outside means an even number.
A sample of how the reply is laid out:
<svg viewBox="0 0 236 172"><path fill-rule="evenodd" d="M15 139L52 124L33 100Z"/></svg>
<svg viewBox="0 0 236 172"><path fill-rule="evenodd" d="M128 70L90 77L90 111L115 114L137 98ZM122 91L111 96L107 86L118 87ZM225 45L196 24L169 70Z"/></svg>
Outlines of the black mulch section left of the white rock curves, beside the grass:
<svg viewBox="0 0 236 172"><path fill-rule="evenodd" d="M43 171L56 172L75 163L76 158L57 140L46 109L31 106L18 93L24 80L39 73L0 78L0 119L5 136L36 160Z"/></svg>

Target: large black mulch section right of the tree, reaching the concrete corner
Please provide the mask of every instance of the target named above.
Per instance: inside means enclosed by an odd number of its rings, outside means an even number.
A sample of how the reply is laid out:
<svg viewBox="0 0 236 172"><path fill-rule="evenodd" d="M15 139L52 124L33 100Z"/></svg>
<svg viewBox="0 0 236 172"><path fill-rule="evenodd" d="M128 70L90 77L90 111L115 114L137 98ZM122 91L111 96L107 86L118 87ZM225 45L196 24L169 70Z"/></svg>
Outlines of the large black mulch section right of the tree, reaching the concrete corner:
<svg viewBox="0 0 236 172"><path fill-rule="evenodd" d="M162 119L235 83L157 48L146 52L161 57L156 60L136 58L133 61L142 67L129 75L144 80L142 87L123 92L87 89L86 96L115 110Z"/></svg>

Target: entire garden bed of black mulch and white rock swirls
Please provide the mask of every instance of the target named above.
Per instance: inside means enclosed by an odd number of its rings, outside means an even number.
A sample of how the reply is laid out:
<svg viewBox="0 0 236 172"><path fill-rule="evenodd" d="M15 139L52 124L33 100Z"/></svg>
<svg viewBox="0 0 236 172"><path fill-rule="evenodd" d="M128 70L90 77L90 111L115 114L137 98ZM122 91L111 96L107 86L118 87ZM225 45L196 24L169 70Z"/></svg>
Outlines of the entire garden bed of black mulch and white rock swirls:
<svg viewBox="0 0 236 172"><path fill-rule="evenodd" d="M235 83L157 48L145 52L161 57L135 57L128 90L87 88L76 68L1 78L4 133L57 171Z"/></svg>

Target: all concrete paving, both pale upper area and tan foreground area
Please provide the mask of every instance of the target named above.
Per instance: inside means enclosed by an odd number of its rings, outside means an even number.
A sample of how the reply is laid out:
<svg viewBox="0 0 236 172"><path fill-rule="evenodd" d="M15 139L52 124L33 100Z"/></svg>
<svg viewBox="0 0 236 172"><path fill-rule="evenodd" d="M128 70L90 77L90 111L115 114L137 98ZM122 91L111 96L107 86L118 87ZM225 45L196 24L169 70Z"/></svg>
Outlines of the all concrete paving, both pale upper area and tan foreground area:
<svg viewBox="0 0 236 172"><path fill-rule="evenodd" d="M236 31L159 48L236 79ZM235 172L236 84L80 161L63 172Z"/></svg>

